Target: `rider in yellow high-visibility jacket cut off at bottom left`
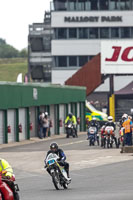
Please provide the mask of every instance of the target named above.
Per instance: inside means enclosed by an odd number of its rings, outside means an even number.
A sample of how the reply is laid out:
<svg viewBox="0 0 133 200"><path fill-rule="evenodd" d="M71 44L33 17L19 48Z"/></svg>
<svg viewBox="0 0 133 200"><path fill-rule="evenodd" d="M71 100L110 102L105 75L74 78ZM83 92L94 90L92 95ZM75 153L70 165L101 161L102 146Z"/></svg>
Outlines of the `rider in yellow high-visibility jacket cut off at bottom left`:
<svg viewBox="0 0 133 200"><path fill-rule="evenodd" d="M11 180L13 177L13 169L11 165L3 158L0 158L0 172L2 173L2 178L4 179L4 181L12 189L14 199L17 199L17 191L15 191L14 182Z"/></svg>

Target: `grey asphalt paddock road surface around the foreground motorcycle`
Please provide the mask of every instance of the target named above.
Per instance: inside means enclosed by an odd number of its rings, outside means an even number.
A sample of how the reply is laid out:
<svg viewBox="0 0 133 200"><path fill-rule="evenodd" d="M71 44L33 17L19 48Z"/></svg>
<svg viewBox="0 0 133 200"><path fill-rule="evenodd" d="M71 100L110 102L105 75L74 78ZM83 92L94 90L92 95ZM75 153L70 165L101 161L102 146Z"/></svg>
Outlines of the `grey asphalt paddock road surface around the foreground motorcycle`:
<svg viewBox="0 0 133 200"><path fill-rule="evenodd" d="M56 141L70 163L72 182L57 191L43 168L49 145ZM13 166L22 200L132 200L133 155L120 149L89 147L86 135L56 138L1 148L0 156Z"/></svg>

